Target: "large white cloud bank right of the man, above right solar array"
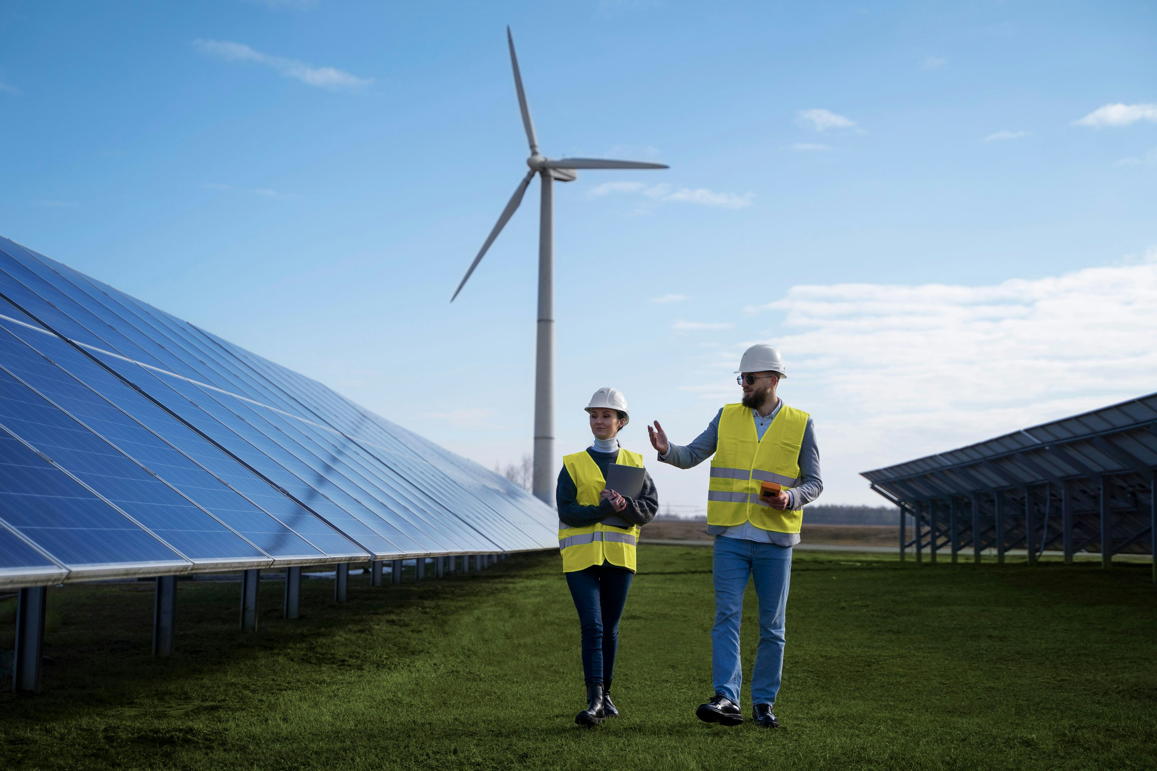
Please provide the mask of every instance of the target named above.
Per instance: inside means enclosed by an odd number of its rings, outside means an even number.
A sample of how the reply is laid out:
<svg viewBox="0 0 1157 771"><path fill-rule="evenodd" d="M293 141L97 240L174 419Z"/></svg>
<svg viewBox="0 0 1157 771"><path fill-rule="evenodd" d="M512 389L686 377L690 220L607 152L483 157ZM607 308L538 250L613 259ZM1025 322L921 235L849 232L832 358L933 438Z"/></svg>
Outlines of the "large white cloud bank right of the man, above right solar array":
<svg viewBox="0 0 1157 771"><path fill-rule="evenodd" d="M760 310L782 318L752 342L783 351L833 499L861 470L1157 391L1157 249L985 287L798 286Z"/></svg>

